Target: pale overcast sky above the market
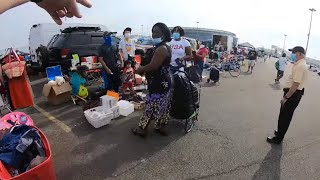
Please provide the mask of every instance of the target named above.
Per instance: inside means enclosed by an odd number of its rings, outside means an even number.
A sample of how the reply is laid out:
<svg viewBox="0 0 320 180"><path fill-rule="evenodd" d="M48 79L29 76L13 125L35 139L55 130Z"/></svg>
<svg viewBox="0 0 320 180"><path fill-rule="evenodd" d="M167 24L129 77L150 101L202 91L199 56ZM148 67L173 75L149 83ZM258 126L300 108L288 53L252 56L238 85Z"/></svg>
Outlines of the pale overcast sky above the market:
<svg viewBox="0 0 320 180"><path fill-rule="evenodd" d="M319 0L92 0L94 7L81 8L82 19L67 22L104 24L122 32L129 26L133 34L151 31L156 22L168 26L196 26L231 31L240 42L270 48L305 47L310 23L309 8L314 13L308 56L320 59L320 1ZM218 3L219 2L219 3ZM33 3L10 10L0 16L0 49L28 45L33 24L53 22L49 15Z"/></svg>

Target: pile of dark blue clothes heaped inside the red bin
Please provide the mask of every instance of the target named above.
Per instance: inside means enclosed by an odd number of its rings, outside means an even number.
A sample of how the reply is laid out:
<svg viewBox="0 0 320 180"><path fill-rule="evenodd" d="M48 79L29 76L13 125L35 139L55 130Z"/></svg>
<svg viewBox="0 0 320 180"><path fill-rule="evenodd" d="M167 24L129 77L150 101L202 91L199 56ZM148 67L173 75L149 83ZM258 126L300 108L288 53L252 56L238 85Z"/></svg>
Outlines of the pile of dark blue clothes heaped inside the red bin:
<svg viewBox="0 0 320 180"><path fill-rule="evenodd" d="M34 127L17 125L1 130L0 139L0 160L13 177L47 159L40 133Z"/></svg>

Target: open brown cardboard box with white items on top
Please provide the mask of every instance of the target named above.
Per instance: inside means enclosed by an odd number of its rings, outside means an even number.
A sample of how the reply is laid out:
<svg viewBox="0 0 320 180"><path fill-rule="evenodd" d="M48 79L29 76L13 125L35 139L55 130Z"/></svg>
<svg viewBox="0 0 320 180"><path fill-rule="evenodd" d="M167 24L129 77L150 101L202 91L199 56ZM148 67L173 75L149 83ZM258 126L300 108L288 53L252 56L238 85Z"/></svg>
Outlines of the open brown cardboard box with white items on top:
<svg viewBox="0 0 320 180"><path fill-rule="evenodd" d="M61 86L50 86L45 84L42 93L48 98L48 102L53 105L59 105L71 100L69 83L63 83Z"/></svg>

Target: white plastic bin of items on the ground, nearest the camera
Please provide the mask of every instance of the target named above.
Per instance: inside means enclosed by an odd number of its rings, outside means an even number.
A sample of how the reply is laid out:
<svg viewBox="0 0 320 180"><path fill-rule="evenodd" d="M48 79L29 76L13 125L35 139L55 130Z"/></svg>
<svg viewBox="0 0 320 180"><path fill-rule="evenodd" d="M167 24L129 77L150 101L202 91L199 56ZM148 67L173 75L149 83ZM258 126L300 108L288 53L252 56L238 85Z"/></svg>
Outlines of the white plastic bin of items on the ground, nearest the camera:
<svg viewBox="0 0 320 180"><path fill-rule="evenodd" d="M98 106L84 111L84 116L93 127L100 128L110 124L114 115L113 112L105 111L104 107Z"/></svg>

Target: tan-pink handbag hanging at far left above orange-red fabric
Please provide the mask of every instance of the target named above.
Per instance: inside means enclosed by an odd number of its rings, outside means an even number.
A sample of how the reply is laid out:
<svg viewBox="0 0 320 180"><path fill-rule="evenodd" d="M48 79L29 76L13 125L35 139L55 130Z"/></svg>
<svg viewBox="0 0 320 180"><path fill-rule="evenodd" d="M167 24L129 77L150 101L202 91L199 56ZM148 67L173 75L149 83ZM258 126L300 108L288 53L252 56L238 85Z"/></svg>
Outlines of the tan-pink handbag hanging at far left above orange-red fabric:
<svg viewBox="0 0 320 180"><path fill-rule="evenodd" d="M21 61L15 51L11 49L7 56L7 63L2 66L2 69L9 79L20 77L23 74L26 62Z"/></svg>

